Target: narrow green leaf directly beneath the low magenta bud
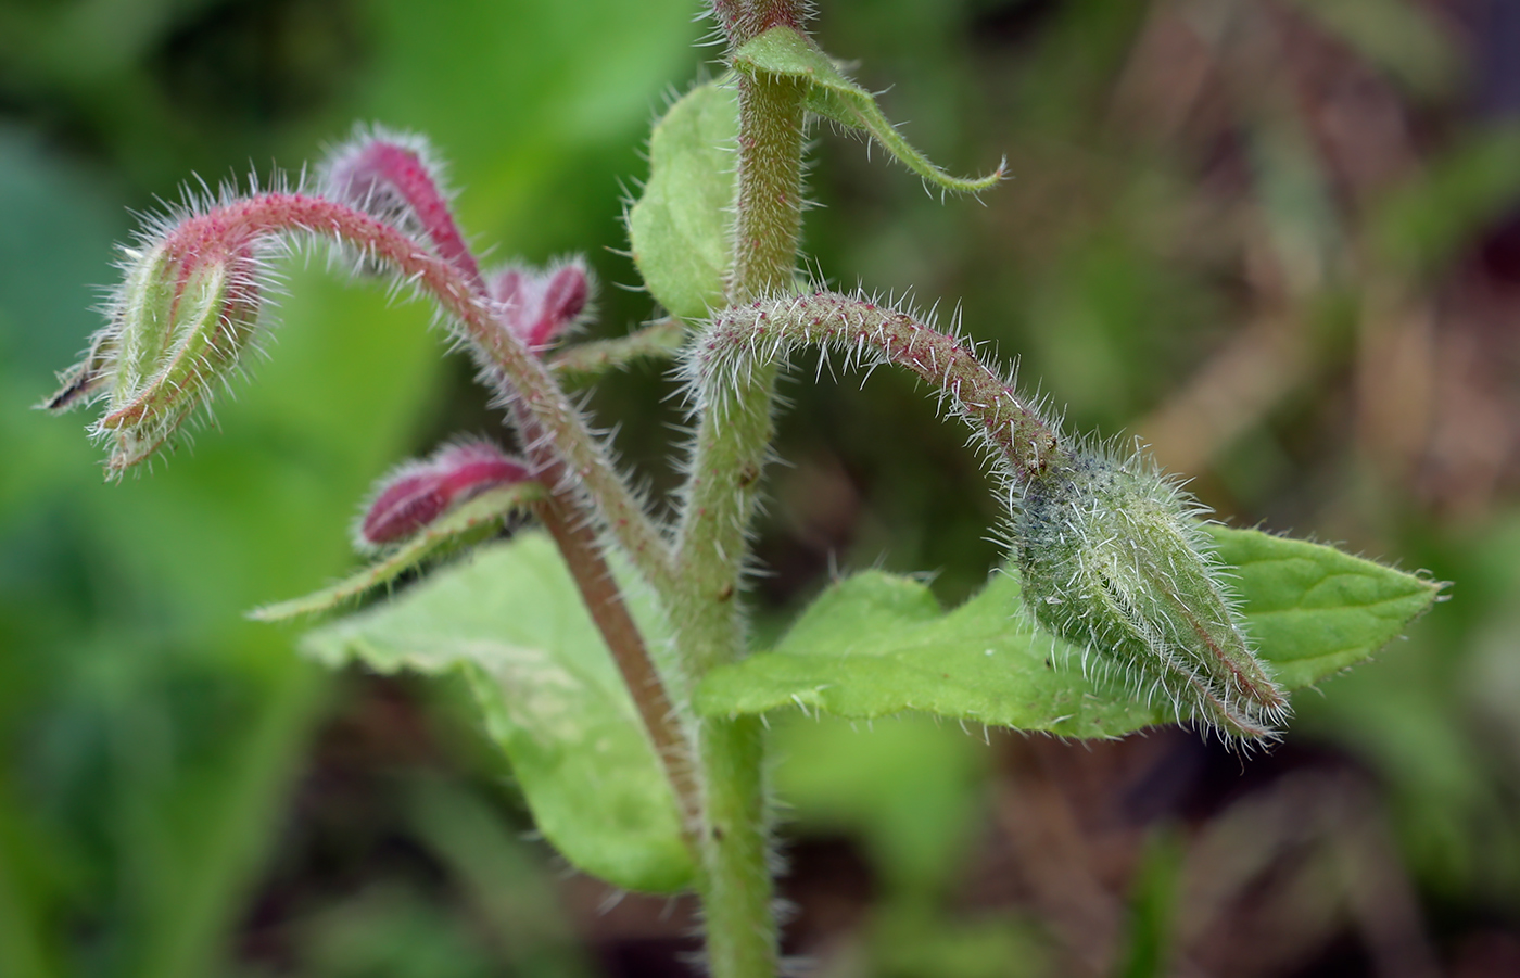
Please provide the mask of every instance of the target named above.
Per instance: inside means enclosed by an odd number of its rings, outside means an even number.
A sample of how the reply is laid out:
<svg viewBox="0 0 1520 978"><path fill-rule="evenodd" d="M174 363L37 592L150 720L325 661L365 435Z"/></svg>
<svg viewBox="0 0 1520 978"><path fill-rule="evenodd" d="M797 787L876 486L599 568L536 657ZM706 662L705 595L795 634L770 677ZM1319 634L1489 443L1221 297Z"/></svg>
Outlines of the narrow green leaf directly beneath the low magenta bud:
<svg viewBox="0 0 1520 978"><path fill-rule="evenodd" d="M287 621L357 601L371 591L389 585L413 566L486 539L502 528L508 516L526 510L543 497L544 487L538 483L515 483L482 492L406 541L395 553L375 560L357 574L306 597L255 607L248 612L248 617L254 621Z"/></svg>

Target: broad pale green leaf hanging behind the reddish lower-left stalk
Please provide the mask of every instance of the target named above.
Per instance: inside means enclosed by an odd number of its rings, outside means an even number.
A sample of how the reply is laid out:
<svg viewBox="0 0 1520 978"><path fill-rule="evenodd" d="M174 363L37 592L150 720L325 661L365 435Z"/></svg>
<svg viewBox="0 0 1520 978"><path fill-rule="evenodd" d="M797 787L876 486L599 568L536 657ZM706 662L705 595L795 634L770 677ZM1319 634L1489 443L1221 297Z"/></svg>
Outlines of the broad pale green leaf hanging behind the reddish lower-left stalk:
<svg viewBox="0 0 1520 978"><path fill-rule="evenodd" d="M654 642L652 604L629 594ZM337 667L462 673L538 829L576 867L669 893L692 860L664 768L570 573L543 533L474 551L382 604L302 639Z"/></svg>

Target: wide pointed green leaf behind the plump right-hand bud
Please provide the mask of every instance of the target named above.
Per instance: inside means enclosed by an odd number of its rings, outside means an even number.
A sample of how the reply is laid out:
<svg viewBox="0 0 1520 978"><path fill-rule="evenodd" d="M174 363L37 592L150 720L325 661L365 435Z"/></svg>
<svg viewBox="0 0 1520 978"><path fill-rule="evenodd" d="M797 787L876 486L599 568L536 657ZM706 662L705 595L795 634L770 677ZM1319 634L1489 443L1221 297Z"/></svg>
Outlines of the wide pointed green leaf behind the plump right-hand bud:
<svg viewBox="0 0 1520 978"><path fill-rule="evenodd" d="M1287 689L1366 659L1441 589L1332 547L1257 530L1213 536L1221 560L1237 568L1246 630ZM944 612L918 580L868 571L825 591L775 650L708 673L696 709L798 706L862 720L915 709L1062 737L1117 737L1173 718L1169 705L1146 705L1117 680L1084 677L1081 659L1032 626L1014 574L996 574Z"/></svg>

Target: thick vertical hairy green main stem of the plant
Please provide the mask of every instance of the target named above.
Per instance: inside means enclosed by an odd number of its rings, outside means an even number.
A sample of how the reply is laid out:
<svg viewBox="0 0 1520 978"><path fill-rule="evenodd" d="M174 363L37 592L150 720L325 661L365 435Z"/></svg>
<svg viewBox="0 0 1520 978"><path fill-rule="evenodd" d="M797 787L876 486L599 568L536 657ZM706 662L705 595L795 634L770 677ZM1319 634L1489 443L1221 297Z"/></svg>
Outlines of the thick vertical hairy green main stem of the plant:
<svg viewBox="0 0 1520 978"><path fill-rule="evenodd" d="M720 3L733 44L778 23L795 3ZM739 199L730 301L793 289L803 214L803 97L793 79L739 80ZM745 650L737 601L760 472L769 451L775 371L719 413L704 405L676 544L679 653L693 679ZM701 896L716 978L760 978L778 966L772 908L763 730L757 718L702 720Z"/></svg>

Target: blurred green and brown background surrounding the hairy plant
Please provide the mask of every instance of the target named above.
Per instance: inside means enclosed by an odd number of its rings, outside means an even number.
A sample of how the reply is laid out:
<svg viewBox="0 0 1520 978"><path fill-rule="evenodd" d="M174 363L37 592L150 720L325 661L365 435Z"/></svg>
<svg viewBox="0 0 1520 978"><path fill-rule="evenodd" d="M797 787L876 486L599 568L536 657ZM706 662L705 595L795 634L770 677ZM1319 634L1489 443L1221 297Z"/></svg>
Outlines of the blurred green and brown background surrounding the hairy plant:
<svg viewBox="0 0 1520 978"><path fill-rule="evenodd" d="M716 56L692 0L0 0L0 976L684 973L687 901L530 835L448 689L330 677L240 617L351 565L371 480L500 421L426 308L289 266L254 383L102 484L27 409L96 328L131 211L427 134L491 257L584 251L596 334L651 314L619 214ZM1072 428L1138 434L1227 518L1456 582L1236 756L781 718L798 914L830 976L1520 973L1520 8L1508 0L830 0L930 155L819 132L836 286L959 308ZM798 378L812 371L798 371ZM834 569L997 559L974 459L879 372L789 384L757 627ZM657 492L678 409L599 422Z"/></svg>

